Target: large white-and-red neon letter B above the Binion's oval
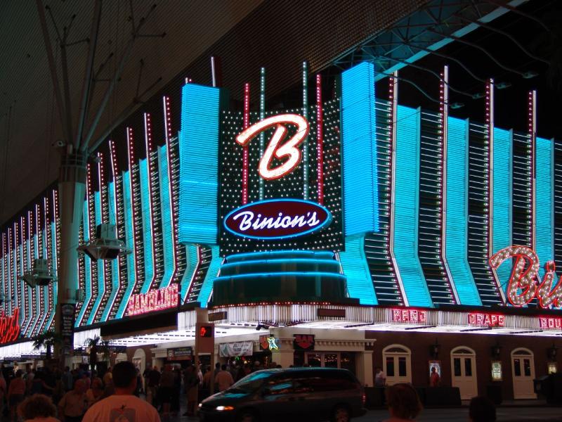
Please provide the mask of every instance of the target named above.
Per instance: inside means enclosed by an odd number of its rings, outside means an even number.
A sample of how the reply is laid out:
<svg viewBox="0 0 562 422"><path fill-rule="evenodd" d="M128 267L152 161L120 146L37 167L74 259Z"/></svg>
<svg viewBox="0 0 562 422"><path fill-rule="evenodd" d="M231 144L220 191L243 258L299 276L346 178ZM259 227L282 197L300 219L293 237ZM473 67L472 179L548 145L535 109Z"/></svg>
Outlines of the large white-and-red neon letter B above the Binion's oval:
<svg viewBox="0 0 562 422"><path fill-rule="evenodd" d="M287 127L285 124L294 124L296 126L296 133L291 136L287 142L281 143L282 139L287 136ZM275 127L275 132L271 136L266 151L259 160L258 172L263 179L273 180L280 179L286 174L292 172L302 161L302 153L297 148L303 139L308 135L310 127L308 121L295 114L282 114L267 117L259 122L252 124L243 132L236 136L236 142L241 146L246 146L251 139L254 139L260 132ZM271 161L273 157L278 160L285 160L277 167L271 168Z"/></svg>

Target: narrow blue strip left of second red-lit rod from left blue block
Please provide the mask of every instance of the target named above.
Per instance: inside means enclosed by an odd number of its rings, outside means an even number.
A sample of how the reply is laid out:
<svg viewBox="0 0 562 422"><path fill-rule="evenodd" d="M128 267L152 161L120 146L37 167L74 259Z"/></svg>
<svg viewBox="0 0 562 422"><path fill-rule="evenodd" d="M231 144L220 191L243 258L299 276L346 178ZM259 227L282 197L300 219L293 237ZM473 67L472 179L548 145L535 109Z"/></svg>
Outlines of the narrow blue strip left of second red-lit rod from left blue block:
<svg viewBox="0 0 562 422"><path fill-rule="evenodd" d="M148 184L148 160L138 162L138 173L141 175L141 210L143 212L143 248L145 250L145 280L141 293L148 292L154 276L154 251L152 250L152 215L150 215L150 191Z"/></svg>

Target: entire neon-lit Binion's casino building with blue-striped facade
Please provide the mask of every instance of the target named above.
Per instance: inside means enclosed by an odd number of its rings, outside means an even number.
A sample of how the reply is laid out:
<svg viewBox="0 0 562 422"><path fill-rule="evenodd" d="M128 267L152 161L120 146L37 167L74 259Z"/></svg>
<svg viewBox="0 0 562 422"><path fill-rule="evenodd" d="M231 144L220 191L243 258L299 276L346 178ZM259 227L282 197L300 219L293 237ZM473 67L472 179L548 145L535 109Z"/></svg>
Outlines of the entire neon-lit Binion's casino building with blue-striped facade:
<svg viewBox="0 0 562 422"><path fill-rule="evenodd" d="M429 385L437 366L463 399L535 398L562 334L562 141L537 134L535 92L516 132L495 127L491 79L476 121L449 115L447 68L426 110L400 104L396 73L378 96L372 63L307 66L299 106L267 106L263 68L242 101L186 79L100 148L79 242L110 224L129 253L80 255L69 362L96 335L141 368L193 359L203 315L221 362L336 366L368 386L377 367ZM58 286L21 276L35 259L57 274L57 188L0 237L0 357L39 361Z"/></svg>

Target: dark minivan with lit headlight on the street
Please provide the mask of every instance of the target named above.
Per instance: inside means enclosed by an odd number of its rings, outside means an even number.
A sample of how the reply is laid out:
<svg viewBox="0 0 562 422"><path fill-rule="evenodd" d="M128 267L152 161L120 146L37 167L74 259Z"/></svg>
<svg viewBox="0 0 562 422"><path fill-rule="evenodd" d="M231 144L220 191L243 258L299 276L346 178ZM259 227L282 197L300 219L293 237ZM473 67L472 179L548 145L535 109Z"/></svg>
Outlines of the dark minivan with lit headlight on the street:
<svg viewBox="0 0 562 422"><path fill-rule="evenodd" d="M204 399L198 415L202 422L346 422L364 406L365 392L347 369L266 369Z"/></svg>

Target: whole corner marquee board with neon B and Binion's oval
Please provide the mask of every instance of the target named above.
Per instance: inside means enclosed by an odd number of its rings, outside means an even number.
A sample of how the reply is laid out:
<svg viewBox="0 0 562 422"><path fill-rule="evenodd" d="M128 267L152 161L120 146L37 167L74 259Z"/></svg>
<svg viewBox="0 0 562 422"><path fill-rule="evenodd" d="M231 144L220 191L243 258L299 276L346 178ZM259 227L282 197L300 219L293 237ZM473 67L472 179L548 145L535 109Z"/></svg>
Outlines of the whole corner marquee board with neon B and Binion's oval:
<svg viewBox="0 0 562 422"><path fill-rule="evenodd" d="M320 119L316 107L306 111L308 118L303 117L303 110L277 111L263 119L249 113L245 129L244 113L223 114L218 200L221 255L342 250L339 99L323 103ZM319 126L321 150L316 139ZM305 156L305 146L317 148L316 153Z"/></svg>

